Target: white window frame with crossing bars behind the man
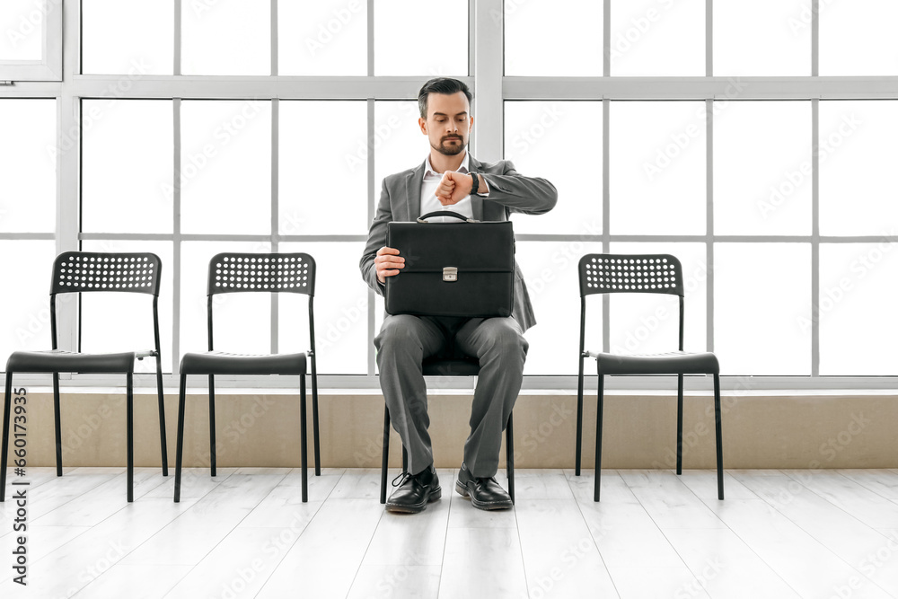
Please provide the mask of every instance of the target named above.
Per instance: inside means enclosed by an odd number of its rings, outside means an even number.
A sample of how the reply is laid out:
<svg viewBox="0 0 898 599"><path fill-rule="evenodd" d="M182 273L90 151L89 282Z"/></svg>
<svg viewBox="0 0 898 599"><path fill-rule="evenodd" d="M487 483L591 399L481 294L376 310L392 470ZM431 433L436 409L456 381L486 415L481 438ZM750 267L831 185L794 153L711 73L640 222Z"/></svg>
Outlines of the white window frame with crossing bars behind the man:
<svg viewBox="0 0 898 599"><path fill-rule="evenodd" d="M184 0L175 0L175 68L180 62L180 7ZM272 3L272 72L277 73L277 0ZM474 110L478 116L478 127L475 128L471 145L476 147L476 154L481 160L494 161L503 157L504 139L504 101L506 100L547 100L570 101L591 100L603 101L604 120L604 153L605 168L607 172L608 161L608 119L611 101L617 100L693 100L707 103L715 100L724 100L732 96L735 84L744 85L744 92L739 96L742 100L788 100L798 99L812 102L814 113L814 141L818 136L816 115L821 100L842 99L891 99L898 100L898 77L820 77L818 76L818 22L817 4L813 2L814 21L812 22L812 73L805 77L743 77L734 79L711 75L713 44L711 43L713 19L711 18L712 0L706 0L706 76L704 77L612 77L610 73L610 13L611 0L604 0L604 75L601 77L506 77L504 75L504 43L503 28L503 0L469 0L469 19L471 35L469 36L469 75L462 79L472 85L475 95ZM170 99L180 101L185 98L202 99L269 99L277 102L279 99L290 100L360 100L366 101L368 113L368 137L374 145L374 103L378 100L417 98L418 88L425 75L420 77L374 76L374 0L367 0L368 8L368 66L367 75L357 77L316 77L316 76L181 76L181 75L153 75L144 76L139 80L130 82L127 91L117 93L122 99ZM109 94L122 79L122 75L81 75L80 69L80 16L79 2L66 4L66 38L65 38L65 78L60 84L22 84L12 88L0 87L0 98L4 97L48 97L56 98L59 106L58 136L60 141L66 136L65 132L78 130L78 115L83 98L99 98ZM712 110L709 110L709 119L713 119ZM273 123L277 128L277 119ZM707 128L709 147L709 185L708 187L708 231L700 236L641 236L641 235L612 235L609 231L608 218L608 184L603 181L603 233L584 239L579 234L520 234L521 241L568 241L577 239L580 241L592 241L603 243L607 251L612 242L643 241L643 242L680 242L700 241L705 242L709 248L709 285L708 285L708 348L713 350L713 244L714 242L770 242L770 241L802 241L810 242L812 246L812 296L814 310L819 305L819 248L822 242L882 242L881 237L876 240L868 240L862 237L831 238L823 237L819 233L819 192L817 164L814 163L814 229L811 235L765 238L761 236L723 236L716 235L713 231L713 185L710 184L713 171L711 161L713 159L712 139L713 121L709 121ZM374 150L372 150L374 151ZM77 250L80 242L95 239L116 240L163 240L174 241L175 264L168 268L173 269L175 281L174 318L173 331L178 330L179 325L179 286L180 263L179 242L187 237L180 235L176 229L172 234L142 235L142 234L103 234L81 233L78 230L79 223L79 182L80 182L79 152L66 152L60 154L58 163L58 210L57 210L57 251ZM277 160L273 169L277 172ZM176 160L177 162L177 160ZM374 206L377 200L379 185L374 181L374 161L369 160L368 165L368 218L374 216ZM273 193L277 193L273 191ZM277 198L272 199L273 206L277 207ZM40 235L24 235L13 233L0 235L0 238L45 238ZM253 241L257 236L246 235L246 241ZM265 236L265 241L272 243L273 251L277 251L280 242L304 242L304 241L359 241L364 237L359 235L280 235L277 230L270 236ZM195 238L208 238L209 240L221 240L222 236L215 235L190 235L189 240ZM243 241L242 235L229 235L226 239ZM898 242L898 237L889 239ZM350 276L356 276L348 273ZM576 293L572 290L571 293ZM367 336L369 341L374 338L374 292L369 291ZM816 312L814 315L818 315ZM77 345L77 306L75 303L60 306L59 311L59 337L61 348L76 348ZM608 348L609 312L603 310L605 349ZM812 334L812 375L811 376L726 376L724 365L723 387L726 390L739 392L740 390L894 390L898 389L898 376L820 376L819 375L819 328L818 319L814 318L814 330ZM276 322L272 322L272 330L277 338ZM173 332L172 331L172 332ZM173 366L176 370L180 358L178 347L178 335L173 335L172 356L166 357L166 366ZM367 374L363 375L322 375L320 384L322 389L378 389L377 377L374 374L374 347L368 343ZM576 388L577 380L573 374L576 372L573 363L575 348L570 348L571 373L563 376L526 376L524 389L529 390L562 390L570 392ZM168 369L168 368L166 368ZM587 370L587 373L589 371ZM220 377L222 386L238 388L291 388L295 382L286 380L288 377L270 377L260 379L258 377ZM119 381L113 376L102 375L64 375L66 384L88 387L110 387L119 385ZM589 381L594 387L595 377ZM20 380L20 377L16 377ZM45 377L29 378L22 375L22 383L46 384ZM710 388L710 380L705 377L690 377L688 386L690 389L707 390ZM145 387L154 385L152 374L136 375L136 384ZM177 374L166 375L166 385L173 387L177 384ZM194 383L191 383L194 384ZM195 382L198 387L204 383ZM443 379L439 382L441 388L470 389L474 379L470 377L457 377ZM612 377L607 383L609 389L632 390L669 390L669 377Z"/></svg>

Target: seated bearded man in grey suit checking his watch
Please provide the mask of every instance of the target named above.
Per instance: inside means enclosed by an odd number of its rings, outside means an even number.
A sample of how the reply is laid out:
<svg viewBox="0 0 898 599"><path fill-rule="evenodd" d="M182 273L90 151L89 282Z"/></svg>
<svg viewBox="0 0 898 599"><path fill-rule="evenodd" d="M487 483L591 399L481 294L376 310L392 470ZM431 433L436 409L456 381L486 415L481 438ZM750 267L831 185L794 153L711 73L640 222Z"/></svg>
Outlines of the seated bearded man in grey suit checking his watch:
<svg viewBox="0 0 898 599"><path fill-rule="evenodd" d="M506 160L480 163L468 154L474 119L471 91L461 81L431 79L418 93L418 108L418 125L430 142L430 154L418 167L383 180L380 204L359 262L365 282L381 295L386 277L401 276L405 262L398 250L385 247L387 223L413 221L439 209L476 220L508 220L514 212L543 214L558 200L549 181L524 177ZM453 221L449 217L445 220ZM420 512L442 495L427 432L430 418L421 363L452 347L480 361L471 407L471 435L464 444L464 462L455 490L471 498L471 504L480 509L512 507L511 498L495 475L502 431L524 377L524 330L535 323L524 278L516 264L515 305L508 318L386 316L374 339L377 366L393 427L409 453L408 471L403 472L399 489L390 496L388 511Z"/></svg>

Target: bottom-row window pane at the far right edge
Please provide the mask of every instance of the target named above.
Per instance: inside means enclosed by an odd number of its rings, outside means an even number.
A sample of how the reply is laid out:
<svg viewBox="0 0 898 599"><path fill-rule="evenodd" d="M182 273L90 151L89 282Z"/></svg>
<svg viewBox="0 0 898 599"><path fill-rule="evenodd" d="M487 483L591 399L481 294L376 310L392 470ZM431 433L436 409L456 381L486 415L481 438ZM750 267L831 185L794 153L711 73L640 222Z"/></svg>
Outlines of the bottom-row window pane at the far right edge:
<svg viewBox="0 0 898 599"><path fill-rule="evenodd" d="M894 376L894 247L885 241L820 245L820 374Z"/></svg>

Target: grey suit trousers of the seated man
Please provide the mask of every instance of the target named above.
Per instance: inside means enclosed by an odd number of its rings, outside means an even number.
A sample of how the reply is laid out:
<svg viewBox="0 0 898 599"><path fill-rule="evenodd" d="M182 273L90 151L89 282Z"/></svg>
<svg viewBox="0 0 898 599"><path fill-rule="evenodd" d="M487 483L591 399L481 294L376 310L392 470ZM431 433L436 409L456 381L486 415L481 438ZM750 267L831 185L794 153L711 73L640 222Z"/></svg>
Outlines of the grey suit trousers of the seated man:
<svg viewBox="0 0 898 599"><path fill-rule="evenodd" d="M480 360L464 462L476 478L494 476L502 432L521 390L527 357L527 340L515 319L388 315L374 347L383 398L409 453L412 474L434 462L421 362L443 355L447 348Z"/></svg>

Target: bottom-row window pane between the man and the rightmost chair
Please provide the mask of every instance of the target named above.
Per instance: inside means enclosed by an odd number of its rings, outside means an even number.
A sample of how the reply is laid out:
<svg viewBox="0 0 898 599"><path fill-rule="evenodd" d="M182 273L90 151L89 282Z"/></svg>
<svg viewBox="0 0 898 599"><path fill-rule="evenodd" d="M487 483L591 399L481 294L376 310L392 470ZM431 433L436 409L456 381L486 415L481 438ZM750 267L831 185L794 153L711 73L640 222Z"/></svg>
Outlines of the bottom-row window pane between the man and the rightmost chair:
<svg viewBox="0 0 898 599"><path fill-rule="evenodd" d="M518 242L515 258L533 302L536 325L524 374L577 374L580 343L580 296L577 262L602 251L601 243ZM602 304L590 302L586 313L586 348L602 349Z"/></svg>

